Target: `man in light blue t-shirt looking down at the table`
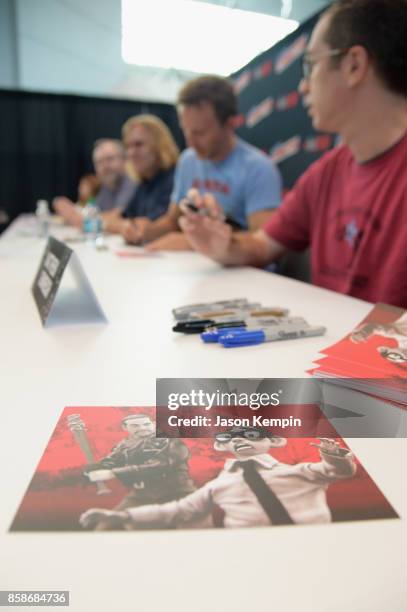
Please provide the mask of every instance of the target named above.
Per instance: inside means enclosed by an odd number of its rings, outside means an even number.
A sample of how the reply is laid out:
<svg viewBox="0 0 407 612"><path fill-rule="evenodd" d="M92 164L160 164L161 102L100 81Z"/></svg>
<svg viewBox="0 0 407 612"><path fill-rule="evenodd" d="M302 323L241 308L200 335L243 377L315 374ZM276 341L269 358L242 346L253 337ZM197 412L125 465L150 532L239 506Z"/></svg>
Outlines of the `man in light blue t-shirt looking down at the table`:
<svg viewBox="0 0 407 612"><path fill-rule="evenodd" d="M190 189L216 197L235 227L261 227L280 203L281 178L269 157L236 136L232 85L216 76L199 77L183 87L177 106L189 148L176 167L170 207L156 221L135 220L126 240L150 242L152 250L188 249L178 219Z"/></svg>

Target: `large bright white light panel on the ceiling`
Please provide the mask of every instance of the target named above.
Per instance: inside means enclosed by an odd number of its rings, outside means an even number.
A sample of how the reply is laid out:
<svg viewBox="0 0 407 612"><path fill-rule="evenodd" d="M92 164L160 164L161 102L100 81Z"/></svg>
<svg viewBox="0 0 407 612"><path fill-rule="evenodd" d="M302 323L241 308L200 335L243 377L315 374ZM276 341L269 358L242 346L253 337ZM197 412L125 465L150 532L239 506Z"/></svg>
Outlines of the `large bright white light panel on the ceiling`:
<svg viewBox="0 0 407 612"><path fill-rule="evenodd" d="M228 75L298 27L292 19L196 0L122 0L128 64Z"/></svg>

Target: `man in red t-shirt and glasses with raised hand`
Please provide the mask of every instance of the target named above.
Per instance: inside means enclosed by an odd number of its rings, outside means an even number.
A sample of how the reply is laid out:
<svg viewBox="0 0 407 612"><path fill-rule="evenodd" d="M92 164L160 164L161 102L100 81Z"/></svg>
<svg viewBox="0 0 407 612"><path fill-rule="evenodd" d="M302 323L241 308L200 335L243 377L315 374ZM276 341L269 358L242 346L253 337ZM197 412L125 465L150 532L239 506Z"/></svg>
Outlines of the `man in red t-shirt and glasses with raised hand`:
<svg viewBox="0 0 407 612"><path fill-rule="evenodd" d="M189 195L190 244L225 265L264 266L311 247L314 284L407 308L407 0L338 0L320 18L299 91L342 144L300 178L264 227L234 233L210 194ZM391 34L389 34L391 33Z"/></svg>

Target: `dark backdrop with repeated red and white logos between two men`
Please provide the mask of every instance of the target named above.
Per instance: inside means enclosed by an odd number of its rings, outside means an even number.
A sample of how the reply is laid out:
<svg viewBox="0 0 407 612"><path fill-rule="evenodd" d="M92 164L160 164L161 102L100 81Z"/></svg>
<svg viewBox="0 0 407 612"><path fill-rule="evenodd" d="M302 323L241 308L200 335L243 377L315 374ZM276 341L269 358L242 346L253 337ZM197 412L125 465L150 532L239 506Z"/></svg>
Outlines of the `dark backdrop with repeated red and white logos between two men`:
<svg viewBox="0 0 407 612"><path fill-rule="evenodd" d="M289 189L335 139L315 132L297 91L301 60L319 14L232 75L238 133L277 163Z"/></svg>

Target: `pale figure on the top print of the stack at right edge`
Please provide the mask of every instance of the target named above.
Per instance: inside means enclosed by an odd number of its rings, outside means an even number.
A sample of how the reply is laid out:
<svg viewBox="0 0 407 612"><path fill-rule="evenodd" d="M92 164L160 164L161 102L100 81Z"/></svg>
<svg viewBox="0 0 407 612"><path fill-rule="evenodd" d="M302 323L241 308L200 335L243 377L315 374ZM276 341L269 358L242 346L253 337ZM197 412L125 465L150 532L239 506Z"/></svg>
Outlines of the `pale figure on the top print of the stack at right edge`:
<svg viewBox="0 0 407 612"><path fill-rule="evenodd" d="M407 312L393 323L364 323L350 335L352 342L366 342L371 336L384 336L397 342L397 347L379 346L380 355L392 363L407 364Z"/></svg>

